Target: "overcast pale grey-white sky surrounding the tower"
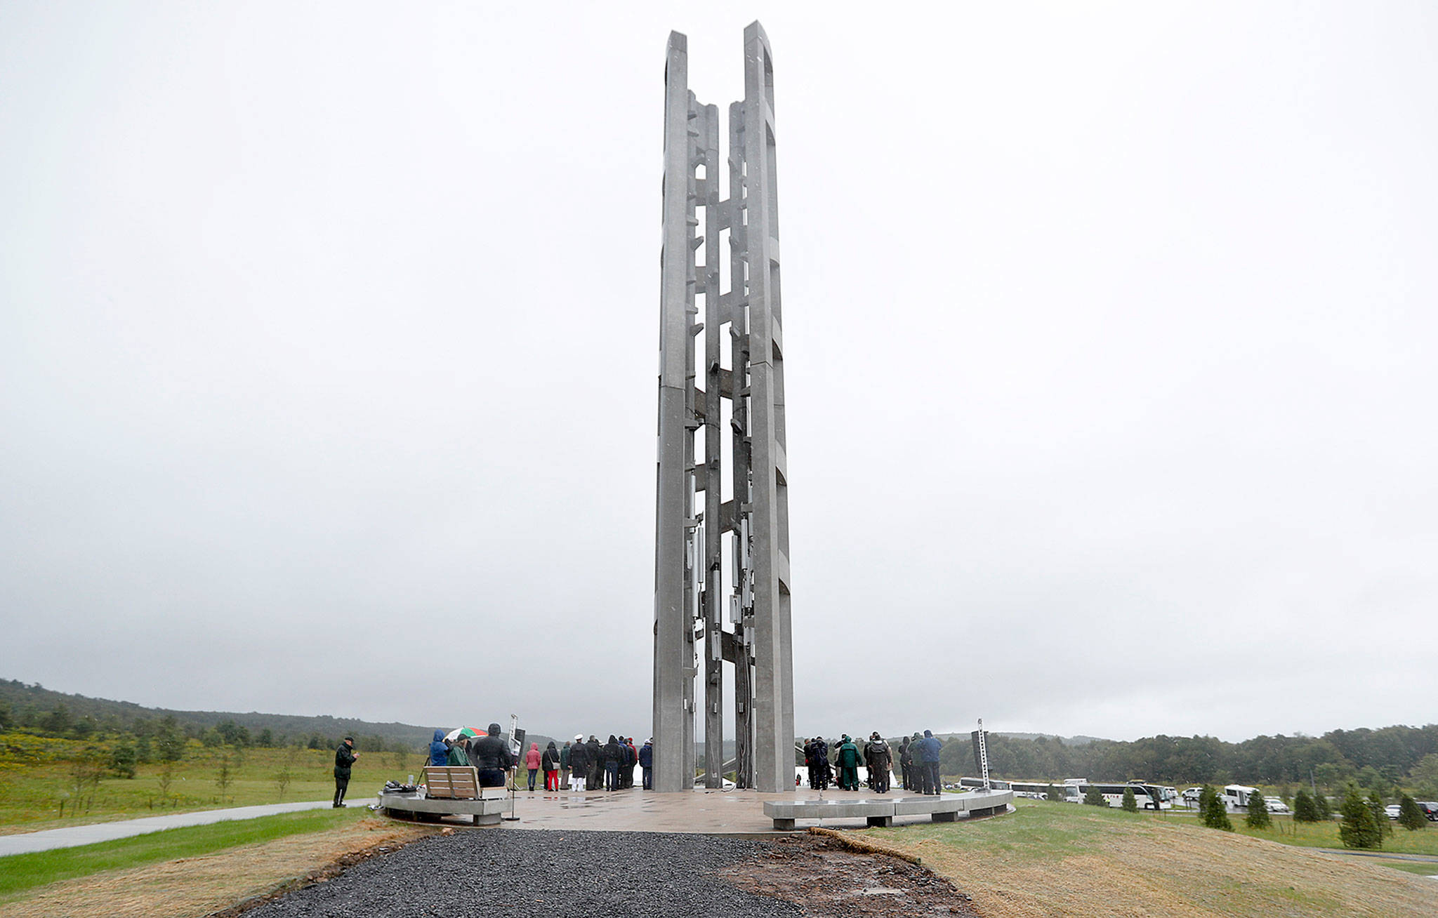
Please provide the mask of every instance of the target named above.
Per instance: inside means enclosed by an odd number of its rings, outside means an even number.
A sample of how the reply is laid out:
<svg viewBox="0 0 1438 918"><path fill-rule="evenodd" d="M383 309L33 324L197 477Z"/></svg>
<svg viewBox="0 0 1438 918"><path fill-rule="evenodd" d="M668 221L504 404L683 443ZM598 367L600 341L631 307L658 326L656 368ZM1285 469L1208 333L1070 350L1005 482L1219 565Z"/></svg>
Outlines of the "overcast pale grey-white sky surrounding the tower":
<svg viewBox="0 0 1438 918"><path fill-rule="evenodd" d="M0 3L0 677L646 734L758 17L798 730L1438 720L1432 4L713 6Z"/></svg>

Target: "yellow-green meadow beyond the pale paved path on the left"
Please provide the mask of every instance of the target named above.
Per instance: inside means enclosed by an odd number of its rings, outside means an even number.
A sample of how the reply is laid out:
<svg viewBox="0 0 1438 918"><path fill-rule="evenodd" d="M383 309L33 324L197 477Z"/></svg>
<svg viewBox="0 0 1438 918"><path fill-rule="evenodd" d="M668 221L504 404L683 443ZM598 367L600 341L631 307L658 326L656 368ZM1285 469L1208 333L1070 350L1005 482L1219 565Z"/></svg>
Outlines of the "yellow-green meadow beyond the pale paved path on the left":
<svg viewBox="0 0 1438 918"><path fill-rule="evenodd" d="M81 769L65 760L73 746L65 740L0 734L0 835L173 812L325 800L335 792L334 750L237 751L191 740L168 779L165 767L152 763L139 766L132 779L101 777L89 783ZM385 780L403 782L423 764L421 753L362 753L349 796L372 796ZM221 767L229 771L224 786ZM282 790L285 773L289 779Z"/></svg>

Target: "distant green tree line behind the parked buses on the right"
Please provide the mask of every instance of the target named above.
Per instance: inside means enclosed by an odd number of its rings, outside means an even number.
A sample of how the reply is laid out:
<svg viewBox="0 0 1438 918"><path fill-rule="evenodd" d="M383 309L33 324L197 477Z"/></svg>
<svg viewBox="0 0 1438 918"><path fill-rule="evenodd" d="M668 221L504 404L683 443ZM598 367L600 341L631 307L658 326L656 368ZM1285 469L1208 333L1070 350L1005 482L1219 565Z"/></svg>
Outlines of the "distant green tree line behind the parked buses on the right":
<svg viewBox="0 0 1438 918"><path fill-rule="evenodd" d="M945 743L945 774L972 774L966 736ZM1261 736L1242 743L1215 737L1143 737L1133 741L1064 743L1058 737L988 736L989 773L1012 780L1090 777L1162 784L1316 784L1342 790L1349 783L1392 797L1398 787L1438 799L1438 724L1332 730L1322 737Z"/></svg>

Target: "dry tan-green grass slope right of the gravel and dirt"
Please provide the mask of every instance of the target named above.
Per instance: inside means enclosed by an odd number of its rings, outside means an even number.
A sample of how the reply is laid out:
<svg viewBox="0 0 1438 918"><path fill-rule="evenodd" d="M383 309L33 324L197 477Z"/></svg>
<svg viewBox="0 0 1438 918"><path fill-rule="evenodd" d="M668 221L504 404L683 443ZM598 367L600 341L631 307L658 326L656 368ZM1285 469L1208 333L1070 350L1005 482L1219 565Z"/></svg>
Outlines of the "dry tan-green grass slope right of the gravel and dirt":
<svg viewBox="0 0 1438 918"><path fill-rule="evenodd" d="M991 918L1438 914L1434 881L1182 817L1020 800L997 819L869 829L863 838L919 855Z"/></svg>

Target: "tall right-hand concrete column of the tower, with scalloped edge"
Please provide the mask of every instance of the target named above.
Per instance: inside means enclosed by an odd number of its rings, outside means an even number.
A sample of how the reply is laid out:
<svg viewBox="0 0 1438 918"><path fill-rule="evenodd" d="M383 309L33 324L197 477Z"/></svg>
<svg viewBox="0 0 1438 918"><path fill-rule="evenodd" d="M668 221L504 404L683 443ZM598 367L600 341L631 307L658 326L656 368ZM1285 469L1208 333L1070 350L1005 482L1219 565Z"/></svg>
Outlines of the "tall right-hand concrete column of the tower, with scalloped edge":
<svg viewBox="0 0 1438 918"><path fill-rule="evenodd" d="M743 201L749 272L749 405L754 519L755 787L794 786L788 458L774 138L774 57L759 23L743 30Z"/></svg>

